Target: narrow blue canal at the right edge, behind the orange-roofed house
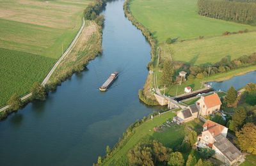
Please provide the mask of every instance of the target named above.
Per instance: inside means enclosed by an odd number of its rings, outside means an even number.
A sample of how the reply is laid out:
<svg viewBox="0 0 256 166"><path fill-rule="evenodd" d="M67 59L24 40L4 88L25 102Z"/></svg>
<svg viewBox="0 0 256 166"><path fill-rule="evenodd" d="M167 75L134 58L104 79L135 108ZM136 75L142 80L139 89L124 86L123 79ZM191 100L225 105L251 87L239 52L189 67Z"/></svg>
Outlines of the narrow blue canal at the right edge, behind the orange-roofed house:
<svg viewBox="0 0 256 166"><path fill-rule="evenodd" d="M229 80L221 82L209 82L209 84L211 84L212 88L217 91L227 91L231 86L234 86L237 90L239 90L250 82L256 83L256 71L249 72L244 75L238 75Z"/></svg>

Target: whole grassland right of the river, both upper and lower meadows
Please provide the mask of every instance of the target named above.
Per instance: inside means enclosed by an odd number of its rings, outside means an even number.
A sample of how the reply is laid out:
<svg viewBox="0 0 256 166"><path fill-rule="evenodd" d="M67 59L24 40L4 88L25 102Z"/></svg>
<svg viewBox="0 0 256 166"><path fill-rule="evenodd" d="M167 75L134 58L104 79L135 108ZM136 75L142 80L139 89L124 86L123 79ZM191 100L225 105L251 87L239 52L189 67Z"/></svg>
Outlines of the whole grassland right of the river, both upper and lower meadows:
<svg viewBox="0 0 256 166"><path fill-rule="evenodd" d="M198 65L256 52L255 26L202 17L197 13L196 3L197 0L133 0L131 12L159 41L164 58L172 56L174 61ZM225 31L244 29L252 32L222 36ZM199 40L199 36L204 39ZM167 45L164 44L167 38L178 41Z"/></svg>

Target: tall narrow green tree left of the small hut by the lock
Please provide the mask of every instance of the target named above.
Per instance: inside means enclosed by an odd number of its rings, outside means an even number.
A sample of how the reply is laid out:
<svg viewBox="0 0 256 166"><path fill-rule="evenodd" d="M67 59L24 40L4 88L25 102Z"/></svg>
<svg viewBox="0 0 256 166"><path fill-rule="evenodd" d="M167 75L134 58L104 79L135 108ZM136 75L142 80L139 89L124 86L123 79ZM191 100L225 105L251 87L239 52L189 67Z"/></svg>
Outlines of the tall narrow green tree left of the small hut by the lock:
<svg viewBox="0 0 256 166"><path fill-rule="evenodd" d="M174 75L174 69L173 69L172 61L170 60L164 61L162 79L163 79L163 83L166 86L170 86L172 84L173 75Z"/></svg>

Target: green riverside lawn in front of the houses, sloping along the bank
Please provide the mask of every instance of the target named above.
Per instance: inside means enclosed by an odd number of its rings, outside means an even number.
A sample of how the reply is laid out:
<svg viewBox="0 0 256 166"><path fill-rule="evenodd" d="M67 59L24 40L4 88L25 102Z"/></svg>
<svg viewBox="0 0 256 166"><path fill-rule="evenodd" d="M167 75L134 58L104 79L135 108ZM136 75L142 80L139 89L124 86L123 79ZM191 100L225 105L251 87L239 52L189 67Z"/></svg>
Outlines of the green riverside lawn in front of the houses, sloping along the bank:
<svg viewBox="0 0 256 166"><path fill-rule="evenodd" d="M118 149L118 151L116 151L116 153L103 165L120 165L120 163L125 160L128 151L145 137L152 137L153 139L159 140L159 142L164 144L164 146L174 148L182 142L186 131L188 131L188 127L193 128L196 132L202 131L202 122L191 121L180 126L172 124L170 128L164 128L164 132L154 132L154 127L160 126L166 122L166 119L172 119L173 116L175 116L175 114L167 112L165 114L161 114L161 116L154 117L153 120L149 120L141 124L141 126L135 129L134 135L127 140L124 147Z"/></svg>

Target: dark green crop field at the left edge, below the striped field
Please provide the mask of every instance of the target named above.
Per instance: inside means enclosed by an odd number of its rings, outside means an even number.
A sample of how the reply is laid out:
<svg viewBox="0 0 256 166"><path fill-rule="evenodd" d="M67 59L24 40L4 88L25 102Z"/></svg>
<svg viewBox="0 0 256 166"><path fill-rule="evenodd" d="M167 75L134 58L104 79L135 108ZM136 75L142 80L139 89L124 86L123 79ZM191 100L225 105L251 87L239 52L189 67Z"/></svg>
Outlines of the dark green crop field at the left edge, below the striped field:
<svg viewBox="0 0 256 166"><path fill-rule="evenodd" d="M50 57L16 50L0 48L0 52L0 105L6 104L6 101L14 93L19 96L27 93L34 82L40 82L44 79L55 61Z"/></svg>

